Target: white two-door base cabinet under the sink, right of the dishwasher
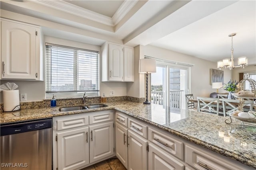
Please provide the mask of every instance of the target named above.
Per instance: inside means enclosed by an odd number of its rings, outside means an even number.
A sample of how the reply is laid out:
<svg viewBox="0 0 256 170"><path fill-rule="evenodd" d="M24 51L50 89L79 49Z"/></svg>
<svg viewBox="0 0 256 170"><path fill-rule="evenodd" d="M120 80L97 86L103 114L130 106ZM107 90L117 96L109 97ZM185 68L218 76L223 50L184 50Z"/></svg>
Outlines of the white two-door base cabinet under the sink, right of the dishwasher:
<svg viewBox="0 0 256 170"><path fill-rule="evenodd" d="M79 170L114 156L113 110L52 120L53 170Z"/></svg>

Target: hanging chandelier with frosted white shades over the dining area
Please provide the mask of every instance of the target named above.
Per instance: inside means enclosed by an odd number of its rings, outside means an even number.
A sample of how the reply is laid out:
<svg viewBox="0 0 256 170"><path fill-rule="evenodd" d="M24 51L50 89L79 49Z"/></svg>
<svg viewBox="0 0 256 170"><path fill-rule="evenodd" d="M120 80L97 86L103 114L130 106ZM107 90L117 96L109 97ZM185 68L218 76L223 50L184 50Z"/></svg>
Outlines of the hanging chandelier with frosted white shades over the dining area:
<svg viewBox="0 0 256 170"><path fill-rule="evenodd" d="M236 67L242 67L244 68L245 66L247 66L248 64L248 59L246 57L239 57L238 58L238 66L234 66L234 57L233 57L233 37L236 35L236 33L232 33L230 35L228 35L229 37L231 37L231 59L223 59L222 61L218 61L217 62L217 67L219 69L221 68L229 68L230 70L232 70L233 68Z"/></svg>

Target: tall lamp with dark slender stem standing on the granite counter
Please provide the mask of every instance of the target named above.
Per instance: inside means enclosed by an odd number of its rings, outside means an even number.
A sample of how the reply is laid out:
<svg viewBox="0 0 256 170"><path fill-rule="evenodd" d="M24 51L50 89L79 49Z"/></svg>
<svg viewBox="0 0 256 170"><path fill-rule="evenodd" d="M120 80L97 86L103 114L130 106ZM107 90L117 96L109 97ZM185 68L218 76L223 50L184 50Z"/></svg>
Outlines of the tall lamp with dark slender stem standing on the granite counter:
<svg viewBox="0 0 256 170"><path fill-rule="evenodd" d="M139 73L146 73L146 101L143 104L151 104L148 102L148 73L156 72L156 60L155 59L140 59Z"/></svg>

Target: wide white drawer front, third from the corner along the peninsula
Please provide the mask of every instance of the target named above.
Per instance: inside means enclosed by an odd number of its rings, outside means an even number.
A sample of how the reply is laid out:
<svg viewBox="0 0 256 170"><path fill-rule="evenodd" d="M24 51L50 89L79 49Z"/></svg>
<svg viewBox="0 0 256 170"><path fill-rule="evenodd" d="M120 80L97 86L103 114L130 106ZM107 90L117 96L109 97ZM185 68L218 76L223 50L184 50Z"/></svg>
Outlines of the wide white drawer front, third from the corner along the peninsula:
<svg viewBox="0 0 256 170"><path fill-rule="evenodd" d="M162 149L175 155L177 158L183 160L183 143L174 139L172 134L164 131L156 131L153 128L148 128L148 139L152 143L160 146Z"/></svg>

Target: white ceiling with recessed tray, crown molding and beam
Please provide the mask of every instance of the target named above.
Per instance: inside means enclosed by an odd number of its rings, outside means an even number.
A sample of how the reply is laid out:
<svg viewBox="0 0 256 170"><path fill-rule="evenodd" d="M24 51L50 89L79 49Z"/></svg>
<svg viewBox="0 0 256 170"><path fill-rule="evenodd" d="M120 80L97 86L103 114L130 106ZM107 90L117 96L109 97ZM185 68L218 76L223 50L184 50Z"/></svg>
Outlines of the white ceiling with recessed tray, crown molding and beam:
<svg viewBox="0 0 256 170"><path fill-rule="evenodd" d="M230 58L228 35L237 33L235 63L246 56L256 64L254 0L1 0L1 16L8 18L6 11L70 26L40 22L45 35L94 45L154 45L214 62Z"/></svg>

